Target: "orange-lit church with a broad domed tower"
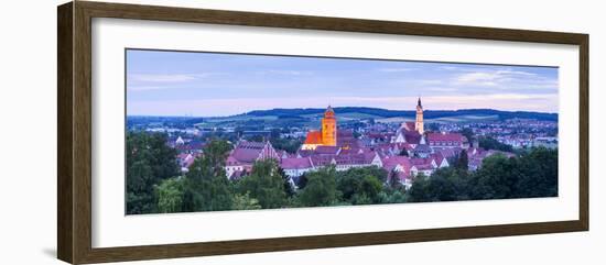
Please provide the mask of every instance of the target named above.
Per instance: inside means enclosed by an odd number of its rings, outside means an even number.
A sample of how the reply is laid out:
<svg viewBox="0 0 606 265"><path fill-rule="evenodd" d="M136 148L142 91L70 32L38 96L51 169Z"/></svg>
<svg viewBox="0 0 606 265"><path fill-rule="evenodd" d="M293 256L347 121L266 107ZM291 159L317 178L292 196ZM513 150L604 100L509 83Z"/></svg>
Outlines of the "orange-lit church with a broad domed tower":
<svg viewBox="0 0 606 265"><path fill-rule="evenodd" d="M317 146L337 145L337 119L331 106L324 111L320 131L310 130L301 150L315 150Z"/></svg>

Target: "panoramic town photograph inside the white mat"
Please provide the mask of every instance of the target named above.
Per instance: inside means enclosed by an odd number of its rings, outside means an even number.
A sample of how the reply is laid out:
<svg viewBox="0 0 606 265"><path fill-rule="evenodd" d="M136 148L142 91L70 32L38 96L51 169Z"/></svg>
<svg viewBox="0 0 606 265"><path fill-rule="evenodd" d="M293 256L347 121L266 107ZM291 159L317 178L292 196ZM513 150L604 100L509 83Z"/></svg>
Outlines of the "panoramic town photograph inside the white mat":
<svg viewBox="0 0 606 265"><path fill-rule="evenodd" d="M126 51L126 214L558 197L559 68Z"/></svg>

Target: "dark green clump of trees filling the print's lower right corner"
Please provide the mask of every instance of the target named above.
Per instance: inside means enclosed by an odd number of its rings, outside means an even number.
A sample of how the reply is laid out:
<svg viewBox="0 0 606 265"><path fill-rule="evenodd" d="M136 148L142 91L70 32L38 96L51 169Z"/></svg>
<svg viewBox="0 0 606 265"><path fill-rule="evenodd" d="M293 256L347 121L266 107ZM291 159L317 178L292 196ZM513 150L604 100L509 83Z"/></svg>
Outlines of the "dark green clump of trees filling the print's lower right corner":
<svg viewBox="0 0 606 265"><path fill-rule="evenodd" d="M459 161L457 158L456 161ZM407 194L409 201L485 200L558 196L558 151L532 148L519 157L486 157L481 167L437 169L416 177Z"/></svg>

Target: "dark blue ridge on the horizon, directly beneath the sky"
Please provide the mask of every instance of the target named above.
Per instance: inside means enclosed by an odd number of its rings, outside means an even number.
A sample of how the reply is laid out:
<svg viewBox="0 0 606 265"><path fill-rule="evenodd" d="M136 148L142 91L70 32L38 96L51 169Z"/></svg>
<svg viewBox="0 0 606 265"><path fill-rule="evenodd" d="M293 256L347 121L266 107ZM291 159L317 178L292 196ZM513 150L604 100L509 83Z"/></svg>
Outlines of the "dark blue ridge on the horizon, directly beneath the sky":
<svg viewBox="0 0 606 265"><path fill-rule="evenodd" d="M413 110L387 110L379 108L367 107L339 107L333 108L335 113L345 117L365 117L376 119L387 118L410 118L414 119L415 111ZM272 110L255 110L235 117L313 117L322 115L325 109L272 109ZM466 109L466 110L425 110L423 112L425 119L441 119L453 117L497 117L499 120L507 119L535 119L542 121L558 121L558 113L544 113L532 111L501 111L493 109Z"/></svg>

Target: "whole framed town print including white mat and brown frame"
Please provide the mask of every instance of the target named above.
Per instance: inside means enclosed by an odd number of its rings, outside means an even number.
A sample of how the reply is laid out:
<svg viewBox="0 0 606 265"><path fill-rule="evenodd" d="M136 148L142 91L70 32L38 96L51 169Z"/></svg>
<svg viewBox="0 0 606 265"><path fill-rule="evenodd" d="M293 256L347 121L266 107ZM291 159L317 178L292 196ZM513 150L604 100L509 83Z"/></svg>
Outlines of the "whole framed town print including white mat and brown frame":
<svg viewBox="0 0 606 265"><path fill-rule="evenodd" d="M588 230L588 35L58 7L58 258Z"/></svg>

